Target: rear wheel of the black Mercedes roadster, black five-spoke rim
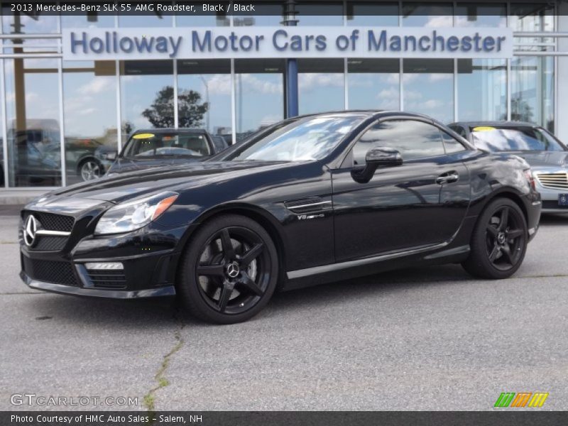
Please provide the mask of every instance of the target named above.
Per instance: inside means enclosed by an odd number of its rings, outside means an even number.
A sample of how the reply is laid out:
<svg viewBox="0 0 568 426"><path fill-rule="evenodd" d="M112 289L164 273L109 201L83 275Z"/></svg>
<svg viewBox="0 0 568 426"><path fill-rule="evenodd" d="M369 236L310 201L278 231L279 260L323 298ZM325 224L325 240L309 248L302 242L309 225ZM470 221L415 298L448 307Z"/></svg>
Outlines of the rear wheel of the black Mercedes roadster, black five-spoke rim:
<svg viewBox="0 0 568 426"><path fill-rule="evenodd" d="M471 235L471 251L461 266L474 277L509 278L523 263L528 244L527 219L515 202L497 198L488 204Z"/></svg>

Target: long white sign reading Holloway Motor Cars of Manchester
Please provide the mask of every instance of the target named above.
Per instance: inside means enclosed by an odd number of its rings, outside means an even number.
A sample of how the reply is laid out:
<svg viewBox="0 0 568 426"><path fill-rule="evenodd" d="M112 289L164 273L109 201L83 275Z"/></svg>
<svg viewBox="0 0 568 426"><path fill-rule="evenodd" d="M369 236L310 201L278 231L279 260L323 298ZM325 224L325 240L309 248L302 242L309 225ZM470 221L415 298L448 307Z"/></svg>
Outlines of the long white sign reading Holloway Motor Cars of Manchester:
<svg viewBox="0 0 568 426"><path fill-rule="evenodd" d="M511 58L510 28L70 28L65 60Z"/></svg>

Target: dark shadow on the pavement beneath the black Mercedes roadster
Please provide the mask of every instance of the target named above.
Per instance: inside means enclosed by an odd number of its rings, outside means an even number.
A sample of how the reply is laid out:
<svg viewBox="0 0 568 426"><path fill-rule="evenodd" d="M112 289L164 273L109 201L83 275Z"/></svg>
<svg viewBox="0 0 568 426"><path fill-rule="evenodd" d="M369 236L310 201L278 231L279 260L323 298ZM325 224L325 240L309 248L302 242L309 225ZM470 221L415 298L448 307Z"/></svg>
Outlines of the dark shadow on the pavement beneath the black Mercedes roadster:
<svg viewBox="0 0 568 426"><path fill-rule="evenodd" d="M432 285L448 285L463 282L469 285L474 280L459 265L429 266L405 269L352 280L317 285L299 290L276 293L265 308L268 312L254 317L251 321L262 321L263 317L278 317L288 314L304 315L307 310L328 305L349 305L353 299L366 297L388 297L397 292L408 292ZM468 282L469 281L469 282ZM174 297L142 300L103 300L90 297L70 297L38 293L33 300L36 319L57 317L63 322L80 323L84 326L106 329L148 329L171 331L180 327L211 327L195 320L180 309Z"/></svg>

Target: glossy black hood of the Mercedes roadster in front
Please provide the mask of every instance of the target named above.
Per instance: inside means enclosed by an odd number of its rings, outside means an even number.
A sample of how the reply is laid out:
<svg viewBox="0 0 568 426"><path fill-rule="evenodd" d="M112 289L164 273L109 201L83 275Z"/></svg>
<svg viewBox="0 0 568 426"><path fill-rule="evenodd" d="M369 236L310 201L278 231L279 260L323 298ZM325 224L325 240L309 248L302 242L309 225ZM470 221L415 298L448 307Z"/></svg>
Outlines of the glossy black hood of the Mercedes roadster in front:
<svg viewBox="0 0 568 426"><path fill-rule="evenodd" d="M42 200L45 203L60 203L62 198L72 197L118 203L160 191L181 191L294 164L275 161L216 161L168 165L78 183L50 192Z"/></svg>

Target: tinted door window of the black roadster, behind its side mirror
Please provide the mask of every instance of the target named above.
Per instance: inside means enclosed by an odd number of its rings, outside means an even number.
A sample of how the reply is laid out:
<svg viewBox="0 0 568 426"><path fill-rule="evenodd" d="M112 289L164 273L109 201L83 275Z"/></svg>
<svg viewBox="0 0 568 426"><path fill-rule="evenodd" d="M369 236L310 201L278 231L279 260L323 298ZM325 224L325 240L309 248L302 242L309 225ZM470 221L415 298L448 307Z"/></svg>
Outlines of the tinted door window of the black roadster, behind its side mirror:
<svg viewBox="0 0 568 426"><path fill-rule="evenodd" d="M365 164L367 151L376 146L397 149L403 160L445 153L438 128L414 120L383 121L368 129L353 148L354 164Z"/></svg>

